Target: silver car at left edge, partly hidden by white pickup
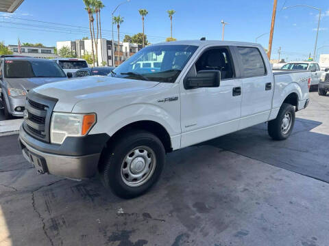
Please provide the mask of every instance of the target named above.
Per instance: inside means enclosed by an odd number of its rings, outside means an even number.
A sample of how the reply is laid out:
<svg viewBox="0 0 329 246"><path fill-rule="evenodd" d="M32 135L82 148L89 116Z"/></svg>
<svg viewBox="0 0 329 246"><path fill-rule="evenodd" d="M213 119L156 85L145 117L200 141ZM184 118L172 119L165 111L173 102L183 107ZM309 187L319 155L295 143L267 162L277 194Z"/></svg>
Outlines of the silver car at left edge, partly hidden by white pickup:
<svg viewBox="0 0 329 246"><path fill-rule="evenodd" d="M29 90L64 79L67 79L66 74L55 61L29 57L1 57L0 108L3 108L5 118L23 117L26 94Z"/></svg>

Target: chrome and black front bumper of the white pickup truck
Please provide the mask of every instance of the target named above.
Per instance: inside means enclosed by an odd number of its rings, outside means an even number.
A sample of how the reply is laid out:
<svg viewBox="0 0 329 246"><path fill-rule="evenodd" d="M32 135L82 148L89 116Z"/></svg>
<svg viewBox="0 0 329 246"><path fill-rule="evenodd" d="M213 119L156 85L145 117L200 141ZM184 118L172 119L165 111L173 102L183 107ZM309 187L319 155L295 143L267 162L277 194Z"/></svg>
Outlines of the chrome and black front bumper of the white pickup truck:
<svg viewBox="0 0 329 246"><path fill-rule="evenodd" d="M93 144L95 137L92 137L89 143L86 143L86 139L82 139L83 137L76 137L75 143L72 141L65 143L66 139L64 146L58 146L34 139L25 132L23 126L19 134L23 156L36 167L39 174L53 174L73 179L90 178L96 174L101 150L105 146L107 137L97 137L100 143L95 144ZM89 148L89 151L83 154L86 147L80 148L82 144L87 144L94 151L90 152Z"/></svg>

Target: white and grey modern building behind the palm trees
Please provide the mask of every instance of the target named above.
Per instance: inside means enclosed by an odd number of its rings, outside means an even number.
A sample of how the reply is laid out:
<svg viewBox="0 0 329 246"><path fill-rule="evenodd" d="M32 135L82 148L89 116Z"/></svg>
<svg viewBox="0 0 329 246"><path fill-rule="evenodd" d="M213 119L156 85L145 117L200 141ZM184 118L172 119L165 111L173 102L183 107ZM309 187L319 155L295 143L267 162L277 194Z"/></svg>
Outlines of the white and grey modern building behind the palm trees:
<svg viewBox="0 0 329 246"><path fill-rule="evenodd" d="M73 51L77 57L82 57L84 54L92 54L91 40L75 40L75 41L58 41L56 42L57 50L59 51L62 47L67 46ZM112 52L112 40L106 40L105 38L97 40L97 51L98 51L98 63L101 66L104 61L107 66L119 66L126 59L134 55L137 51L143 48L140 44L132 44L129 42L118 42L114 41L114 51ZM94 43L94 53L96 55L96 46ZM120 56L120 61L119 61ZM112 59L114 57L114 59Z"/></svg>

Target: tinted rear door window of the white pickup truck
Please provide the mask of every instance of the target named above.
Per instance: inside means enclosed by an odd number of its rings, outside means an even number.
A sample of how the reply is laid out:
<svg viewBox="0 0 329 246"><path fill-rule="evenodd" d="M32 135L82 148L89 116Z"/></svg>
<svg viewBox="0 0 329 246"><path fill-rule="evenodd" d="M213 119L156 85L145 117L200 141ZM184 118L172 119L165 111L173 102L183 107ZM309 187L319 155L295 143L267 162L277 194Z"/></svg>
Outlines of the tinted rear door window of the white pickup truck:
<svg viewBox="0 0 329 246"><path fill-rule="evenodd" d="M266 74L262 55L257 48L237 47L242 61L243 77L256 77Z"/></svg>

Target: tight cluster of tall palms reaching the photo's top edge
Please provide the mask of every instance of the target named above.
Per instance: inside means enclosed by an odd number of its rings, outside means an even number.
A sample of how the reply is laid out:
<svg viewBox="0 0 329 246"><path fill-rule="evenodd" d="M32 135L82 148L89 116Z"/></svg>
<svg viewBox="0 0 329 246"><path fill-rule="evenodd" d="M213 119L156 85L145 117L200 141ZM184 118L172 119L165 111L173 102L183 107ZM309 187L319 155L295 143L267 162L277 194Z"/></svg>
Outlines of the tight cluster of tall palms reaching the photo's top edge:
<svg viewBox="0 0 329 246"><path fill-rule="evenodd" d="M98 63L98 35L100 34L101 38L101 9L105 7L101 0L83 0L84 5L86 5L85 10L88 12L89 18L89 30L90 30L90 39L91 39L91 50L93 53L93 64L95 64L95 52L94 52L94 42L96 49L96 64ZM95 28L94 28L94 14L96 14L96 23L97 23L97 35L95 37ZM101 43L101 50L102 50ZM103 54L101 54L103 55Z"/></svg>

